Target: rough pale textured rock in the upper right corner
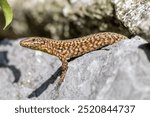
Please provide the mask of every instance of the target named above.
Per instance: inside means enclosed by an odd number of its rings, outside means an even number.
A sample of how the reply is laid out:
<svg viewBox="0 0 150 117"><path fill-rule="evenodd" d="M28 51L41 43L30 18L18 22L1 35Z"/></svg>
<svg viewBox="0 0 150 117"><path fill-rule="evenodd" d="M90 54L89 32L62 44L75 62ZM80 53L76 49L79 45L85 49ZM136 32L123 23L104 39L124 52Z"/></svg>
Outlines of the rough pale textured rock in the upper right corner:
<svg viewBox="0 0 150 117"><path fill-rule="evenodd" d="M112 0L118 19L132 34L138 34L150 42L150 1Z"/></svg>

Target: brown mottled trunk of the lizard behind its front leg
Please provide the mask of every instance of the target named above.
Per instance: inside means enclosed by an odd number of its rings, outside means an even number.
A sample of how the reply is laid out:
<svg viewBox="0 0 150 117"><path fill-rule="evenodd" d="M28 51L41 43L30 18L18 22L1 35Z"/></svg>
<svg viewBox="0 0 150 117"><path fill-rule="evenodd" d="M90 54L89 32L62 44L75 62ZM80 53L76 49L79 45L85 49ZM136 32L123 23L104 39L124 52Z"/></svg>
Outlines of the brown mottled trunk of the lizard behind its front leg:
<svg viewBox="0 0 150 117"><path fill-rule="evenodd" d="M57 49L61 53L67 54L67 58L70 59L111 45L125 38L127 37L117 33L97 33L80 38L63 40L61 44L58 43Z"/></svg>

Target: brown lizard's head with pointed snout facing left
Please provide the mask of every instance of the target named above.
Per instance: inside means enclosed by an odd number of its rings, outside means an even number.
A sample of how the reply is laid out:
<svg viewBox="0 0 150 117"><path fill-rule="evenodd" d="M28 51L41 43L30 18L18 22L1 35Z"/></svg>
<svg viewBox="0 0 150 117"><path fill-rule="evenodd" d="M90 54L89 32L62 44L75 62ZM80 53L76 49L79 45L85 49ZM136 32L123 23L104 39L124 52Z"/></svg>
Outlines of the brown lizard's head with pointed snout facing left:
<svg viewBox="0 0 150 117"><path fill-rule="evenodd" d="M45 41L45 39L40 37L29 37L27 39L21 40L20 45L26 48L40 50L45 45Z"/></svg>

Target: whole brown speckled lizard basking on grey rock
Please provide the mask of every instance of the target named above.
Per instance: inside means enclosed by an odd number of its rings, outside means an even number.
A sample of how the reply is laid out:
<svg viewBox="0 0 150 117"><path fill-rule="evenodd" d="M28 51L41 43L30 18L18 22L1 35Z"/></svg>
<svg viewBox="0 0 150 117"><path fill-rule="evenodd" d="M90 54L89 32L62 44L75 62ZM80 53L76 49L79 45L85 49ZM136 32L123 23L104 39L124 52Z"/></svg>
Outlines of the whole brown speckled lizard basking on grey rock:
<svg viewBox="0 0 150 117"><path fill-rule="evenodd" d="M29 37L22 40L20 45L57 56L62 62L62 73L59 80L59 84L61 84L68 69L67 60L111 45L125 38L127 37L121 34L104 32L68 40Z"/></svg>

